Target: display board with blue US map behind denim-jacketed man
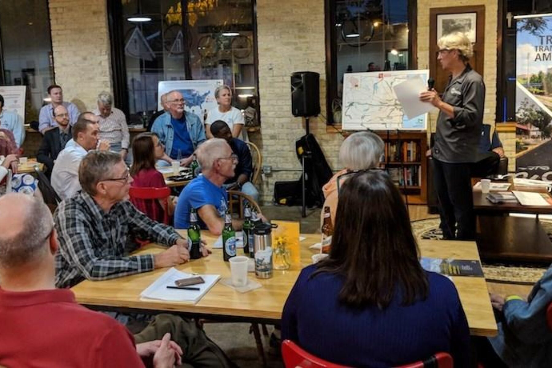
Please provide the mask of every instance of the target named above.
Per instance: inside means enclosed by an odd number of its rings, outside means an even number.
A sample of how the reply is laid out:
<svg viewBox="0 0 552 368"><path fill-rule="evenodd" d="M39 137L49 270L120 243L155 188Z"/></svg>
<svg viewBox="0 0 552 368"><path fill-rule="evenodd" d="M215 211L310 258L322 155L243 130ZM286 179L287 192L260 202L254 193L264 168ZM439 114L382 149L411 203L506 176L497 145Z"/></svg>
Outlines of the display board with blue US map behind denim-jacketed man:
<svg viewBox="0 0 552 368"><path fill-rule="evenodd" d="M215 99L216 87L222 86L222 79L199 81L161 81L157 85L158 110L162 110L161 95L178 90L186 101L185 110L199 116L203 122L206 112L218 106Z"/></svg>

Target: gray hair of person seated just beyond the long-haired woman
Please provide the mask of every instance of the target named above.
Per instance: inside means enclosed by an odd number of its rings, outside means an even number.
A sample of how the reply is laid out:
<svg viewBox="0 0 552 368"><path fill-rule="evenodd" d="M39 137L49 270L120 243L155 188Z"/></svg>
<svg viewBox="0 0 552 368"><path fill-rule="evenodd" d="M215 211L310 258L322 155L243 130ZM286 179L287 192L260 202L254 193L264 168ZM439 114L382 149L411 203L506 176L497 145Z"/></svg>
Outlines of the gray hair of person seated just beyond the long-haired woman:
<svg viewBox="0 0 552 368"><path fill-rule="evenodd" d="M339 162L351 170L378 167L385 148L381 138L370 132L356 132L347 137L339 148Z"/></svg>

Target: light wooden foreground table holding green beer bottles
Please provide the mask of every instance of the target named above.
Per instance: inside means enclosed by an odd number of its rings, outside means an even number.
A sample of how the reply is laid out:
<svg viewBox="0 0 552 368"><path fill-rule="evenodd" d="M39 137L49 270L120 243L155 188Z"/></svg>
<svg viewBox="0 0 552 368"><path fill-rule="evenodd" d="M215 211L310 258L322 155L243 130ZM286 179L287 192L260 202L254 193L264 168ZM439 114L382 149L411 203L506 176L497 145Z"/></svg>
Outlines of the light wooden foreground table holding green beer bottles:
<svg viewBox="0 0 552 368"><path fill-rule="evenodd" d="M320 241L320 234L306 234L301 244L301 264L311 263L311 255L316 253L309 246ZM216 237L204 232L203 239L213 244ZM147 246L147 252L160 252L163 248ZM426 257L479 259L474 242L421 241L420 249ZM230 264L222 260L222 250L213 249L207 258L193 260L177 266L188 273L220 274L230 277ZM213 286L201 300L195 304L140 300L140 292L155 281L167 269L158 269L149 273L126 276L105 281L83 281L73 287L77 302L100 310L124 310L134 312L157 313L160 311L193 314L211 319L224 318L237 321L257 321L278 323L291 287L298 278L300 267L289 270L274 270L271 279L256 279L263 287L240 294L220 282ZM249 274L254 277L253 274ZM470 332L473 335L496 335L496 323L484 278L454 277L460 300L464 306Z"/></svg>

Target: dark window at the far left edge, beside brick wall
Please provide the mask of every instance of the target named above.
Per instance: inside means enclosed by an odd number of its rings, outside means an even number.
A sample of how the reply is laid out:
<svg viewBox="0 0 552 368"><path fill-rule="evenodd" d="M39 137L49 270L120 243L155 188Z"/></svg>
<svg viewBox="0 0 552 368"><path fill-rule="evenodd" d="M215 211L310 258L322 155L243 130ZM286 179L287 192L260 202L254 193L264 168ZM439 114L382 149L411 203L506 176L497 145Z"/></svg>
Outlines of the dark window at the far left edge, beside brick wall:
<svg viewBox="0 0 552 368"><path fill-rule="evenodd" d="M25 121L38 120L54 82L46 0L0 0L0 85L27 86Z"/></svg>

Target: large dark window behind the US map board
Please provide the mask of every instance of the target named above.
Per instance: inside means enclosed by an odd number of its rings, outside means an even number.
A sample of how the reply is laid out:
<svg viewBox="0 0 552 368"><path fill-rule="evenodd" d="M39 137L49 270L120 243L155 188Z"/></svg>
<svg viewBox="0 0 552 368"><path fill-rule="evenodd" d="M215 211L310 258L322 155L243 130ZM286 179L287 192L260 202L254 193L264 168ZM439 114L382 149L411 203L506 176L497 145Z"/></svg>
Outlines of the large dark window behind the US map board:
<svg viewBox="0 0 552 368"><path fill-rule="evenodd" d="M254 106L257 61L253 0L108 2L116 99L136 120L157 110L157 84L222 79L233 105ZM121 29L122 28L122 29Z"/></svg>

